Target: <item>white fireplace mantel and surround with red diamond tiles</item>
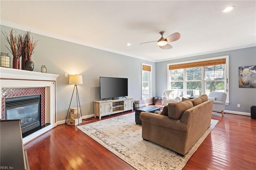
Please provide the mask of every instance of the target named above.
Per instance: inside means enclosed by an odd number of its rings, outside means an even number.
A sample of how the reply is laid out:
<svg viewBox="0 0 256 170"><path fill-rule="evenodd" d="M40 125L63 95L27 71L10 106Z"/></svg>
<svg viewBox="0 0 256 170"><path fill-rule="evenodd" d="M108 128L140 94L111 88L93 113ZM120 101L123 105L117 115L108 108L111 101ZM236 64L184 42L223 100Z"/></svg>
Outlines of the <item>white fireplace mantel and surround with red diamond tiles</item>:
<svg viewBox="0 0 256 170"><path fill-rule="evenodd" d="M42 95L42 125L50 125L23 138L23 143L56 126L56 79L59 75L0 67L1 119L4 120L4 99L26 95Z"/></svg>

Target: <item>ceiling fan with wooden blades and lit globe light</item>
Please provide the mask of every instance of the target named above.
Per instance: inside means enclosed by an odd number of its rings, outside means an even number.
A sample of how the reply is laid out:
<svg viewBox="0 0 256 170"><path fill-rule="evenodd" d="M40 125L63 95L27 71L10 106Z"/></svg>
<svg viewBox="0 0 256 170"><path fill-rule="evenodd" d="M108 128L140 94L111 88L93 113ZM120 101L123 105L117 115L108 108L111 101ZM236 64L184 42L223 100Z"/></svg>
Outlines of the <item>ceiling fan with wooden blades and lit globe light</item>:
<svg viewBox="0 0 256 170"><path fill-rule="evenodd" d="M175 42L177 40L180 39L180 33L175 32L173 34L171 34L170 36L163 38L164 35L164 31L159 32L159 34L161 34L161 38L157 41L152 41L152 42L157 42L157 45L159 45L160 48L162 49L171 49L172 45L168 44L168 42ZM145 42L145 43L150 43L150 42ZM140 43L143 44L143 43Z"/></svg>

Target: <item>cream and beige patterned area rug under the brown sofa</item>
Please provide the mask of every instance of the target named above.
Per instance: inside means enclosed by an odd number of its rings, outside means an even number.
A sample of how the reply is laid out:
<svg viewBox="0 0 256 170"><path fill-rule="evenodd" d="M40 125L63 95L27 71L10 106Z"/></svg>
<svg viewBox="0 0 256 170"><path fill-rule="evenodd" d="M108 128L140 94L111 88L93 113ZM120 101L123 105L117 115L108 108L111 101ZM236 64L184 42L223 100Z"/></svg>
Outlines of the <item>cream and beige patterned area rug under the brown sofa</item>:
<svg viewBox="0 0 256 170"><path fill-rule="evenodd" d="M217 123L217 120L212 119L210 128L184 157L158 144L143 140L142 126L136 125L135 113L77 128L138 170L181 170Z"/></svg>

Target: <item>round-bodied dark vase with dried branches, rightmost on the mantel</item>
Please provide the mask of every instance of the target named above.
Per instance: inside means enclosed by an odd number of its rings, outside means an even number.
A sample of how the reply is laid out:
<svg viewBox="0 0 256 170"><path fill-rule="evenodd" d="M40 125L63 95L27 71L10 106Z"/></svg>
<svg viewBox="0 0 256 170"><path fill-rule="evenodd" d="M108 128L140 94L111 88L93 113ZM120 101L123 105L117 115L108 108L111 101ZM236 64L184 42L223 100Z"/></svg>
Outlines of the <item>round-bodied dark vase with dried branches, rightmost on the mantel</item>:
<svg viewBox="0 0 256 170"><path fill-rule="evenodd" d="M24 46L22 49L22 53L24 57L26 57L26 61L24 62L24 67L26 70L33 71L34 70L34 62L31 59L31 55L34 53L34 49L37 45L37 41L33 41L33 38L30 37L30 31L27 31L23 36Z"/></svg>

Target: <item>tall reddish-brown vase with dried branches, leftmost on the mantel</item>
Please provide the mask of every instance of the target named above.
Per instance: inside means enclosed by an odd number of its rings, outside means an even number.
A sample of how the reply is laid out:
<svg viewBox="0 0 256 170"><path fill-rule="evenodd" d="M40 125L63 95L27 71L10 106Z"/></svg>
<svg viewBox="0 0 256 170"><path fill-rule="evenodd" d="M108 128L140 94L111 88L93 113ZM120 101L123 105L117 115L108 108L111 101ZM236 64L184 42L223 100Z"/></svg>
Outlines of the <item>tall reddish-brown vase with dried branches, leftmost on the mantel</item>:
<svg viewBox="0 0 256 170"><path fill-rule="evenodd" d="M4 34L4 37L6 41L10 44L10 49L8 50L13 55L12 60L12 68L14 69L20 69L20 57L22 55L22 48L23 48L23 38L21 34L13 35L12 30L10 30L10 34L8 35L6 32L2 32ZM10 37L10 38L9 38Z"/></svg>

